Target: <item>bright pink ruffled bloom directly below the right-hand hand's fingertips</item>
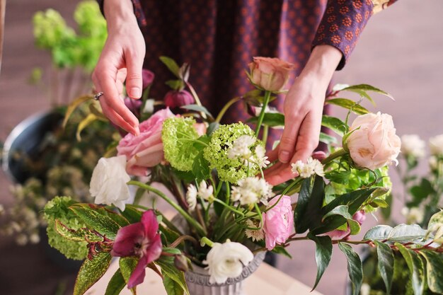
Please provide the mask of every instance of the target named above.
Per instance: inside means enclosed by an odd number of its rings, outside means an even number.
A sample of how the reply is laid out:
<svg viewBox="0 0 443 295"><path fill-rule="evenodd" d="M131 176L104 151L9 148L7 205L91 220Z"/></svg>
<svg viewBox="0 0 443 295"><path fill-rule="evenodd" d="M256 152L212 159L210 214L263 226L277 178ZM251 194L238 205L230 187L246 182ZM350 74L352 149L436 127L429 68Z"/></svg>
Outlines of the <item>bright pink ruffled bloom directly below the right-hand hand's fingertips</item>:
<svg viewBox="0 0 443 295"><path fill-rule="evenodd" d="M270 200L267 207L275 204L280 196ZM275 207L263 213L263 232L267 250L272 250L275 244L286 242L294 231L294 213L292 212L291 197L282 196Z"/></svg>

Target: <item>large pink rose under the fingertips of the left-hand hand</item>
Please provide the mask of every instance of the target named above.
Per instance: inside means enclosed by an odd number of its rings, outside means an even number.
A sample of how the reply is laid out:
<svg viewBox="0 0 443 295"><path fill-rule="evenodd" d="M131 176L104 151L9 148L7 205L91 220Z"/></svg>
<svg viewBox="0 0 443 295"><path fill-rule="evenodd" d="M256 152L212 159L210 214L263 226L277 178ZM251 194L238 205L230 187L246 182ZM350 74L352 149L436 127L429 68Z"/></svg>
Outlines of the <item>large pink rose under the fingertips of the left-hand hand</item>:
<svg viewBox="0 0 443 295"><path fill-rule="evenodd" d="M163 161L163 143L161 129L163 121L174 114L168 108L154 113L148 120L139 125L140 134L127 134L118 146L117 154L125 155L126 170L131 175L146 176L147 168L156 166Z"/></svg>

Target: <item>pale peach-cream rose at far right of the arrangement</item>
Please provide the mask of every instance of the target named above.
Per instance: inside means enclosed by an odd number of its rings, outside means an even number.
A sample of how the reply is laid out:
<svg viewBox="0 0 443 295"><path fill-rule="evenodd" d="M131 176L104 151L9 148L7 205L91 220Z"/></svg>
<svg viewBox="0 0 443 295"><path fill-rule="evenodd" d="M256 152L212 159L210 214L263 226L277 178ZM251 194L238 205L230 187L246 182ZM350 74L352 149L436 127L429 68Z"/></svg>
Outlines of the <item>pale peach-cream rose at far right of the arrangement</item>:
<svg viewBox="0 0 443 295"><path fill-rule="evenodd" d="M354 163L375 170L397 161L401 140L396 135L392 117L388 114L366 114L355 118L347 139L347 149Z"/></svg>

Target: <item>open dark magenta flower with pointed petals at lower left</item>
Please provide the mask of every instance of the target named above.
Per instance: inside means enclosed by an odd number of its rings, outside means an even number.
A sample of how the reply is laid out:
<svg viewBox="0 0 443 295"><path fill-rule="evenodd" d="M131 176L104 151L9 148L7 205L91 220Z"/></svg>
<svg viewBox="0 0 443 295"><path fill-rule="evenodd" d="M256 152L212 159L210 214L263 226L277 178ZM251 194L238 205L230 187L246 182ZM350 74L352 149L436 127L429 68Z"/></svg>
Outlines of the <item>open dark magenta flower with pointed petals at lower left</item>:
<svg viewBox="0 0 443 295"><path fill-rule="evenodd" d="M146 266L160 257L162 245L158 231L159 222L152 210L144 212L140 222L124 226L117 231L111 255L139 257L139 262L127 283L128 288L142 284Z"/></svg>

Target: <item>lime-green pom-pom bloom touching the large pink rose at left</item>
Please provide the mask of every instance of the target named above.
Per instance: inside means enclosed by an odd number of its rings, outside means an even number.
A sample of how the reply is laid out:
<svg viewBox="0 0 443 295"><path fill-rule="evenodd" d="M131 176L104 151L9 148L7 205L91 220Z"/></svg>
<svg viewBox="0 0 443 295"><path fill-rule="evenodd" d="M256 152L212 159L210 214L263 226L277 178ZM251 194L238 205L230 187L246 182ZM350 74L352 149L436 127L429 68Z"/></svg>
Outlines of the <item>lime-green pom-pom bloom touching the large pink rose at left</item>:
<svg viewBox="0 0 443 295"><path fill-rule="evenodd" d="M166 160L180 171L192 170L198 150L194 146L199 137L191 117L171 117L163 122L161 141Z"/></svg>

